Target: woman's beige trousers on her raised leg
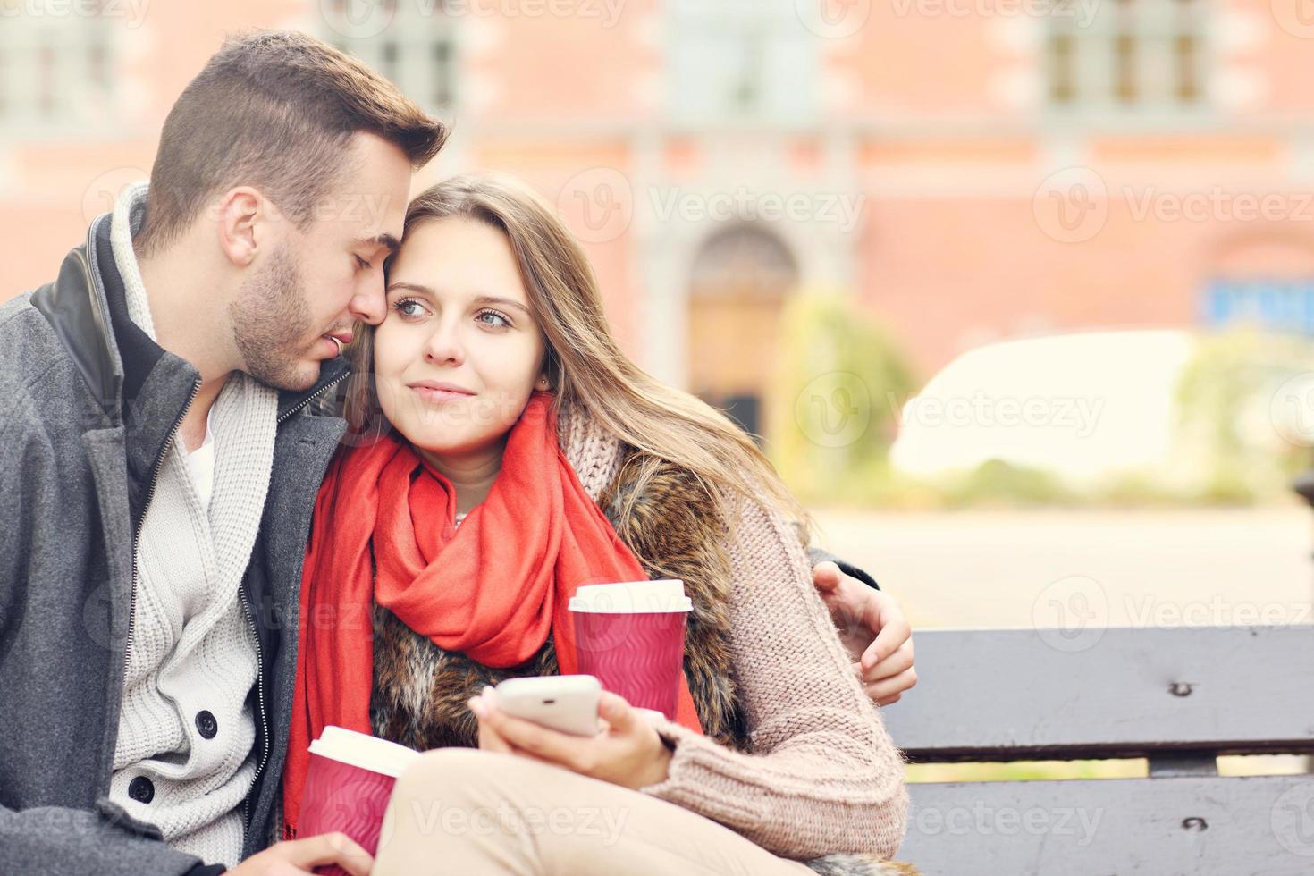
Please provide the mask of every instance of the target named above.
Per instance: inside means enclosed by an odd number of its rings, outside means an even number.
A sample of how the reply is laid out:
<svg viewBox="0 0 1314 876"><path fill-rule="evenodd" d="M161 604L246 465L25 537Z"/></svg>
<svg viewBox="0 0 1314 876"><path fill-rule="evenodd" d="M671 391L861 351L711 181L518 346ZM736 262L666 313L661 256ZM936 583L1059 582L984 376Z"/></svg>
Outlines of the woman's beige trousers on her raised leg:
<svg viewBox="0 0 1314 876"><path fill-rule="evenodd" d="M397 781L373 876L800 876L729 827L629 788L477 749L424 754Z"/></svg>

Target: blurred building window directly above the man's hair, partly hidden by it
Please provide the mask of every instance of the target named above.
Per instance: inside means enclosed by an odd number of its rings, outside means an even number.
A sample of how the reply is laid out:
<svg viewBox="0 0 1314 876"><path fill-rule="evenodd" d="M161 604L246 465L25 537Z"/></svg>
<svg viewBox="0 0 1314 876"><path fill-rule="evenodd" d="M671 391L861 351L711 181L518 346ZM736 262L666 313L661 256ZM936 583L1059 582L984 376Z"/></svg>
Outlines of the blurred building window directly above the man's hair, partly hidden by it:
<svg viewBox="0 0 1314 876"><path fill-rule="evenodd" d="M444 0L407 3L382 0L371 14L382 16L381 29L356 35L352 4L360 0L331 0L323 4L327 33L325 39L377 70L426 112L444 113L456 105L456 21ZM374 28L365 28L373 32Z"/></svg>

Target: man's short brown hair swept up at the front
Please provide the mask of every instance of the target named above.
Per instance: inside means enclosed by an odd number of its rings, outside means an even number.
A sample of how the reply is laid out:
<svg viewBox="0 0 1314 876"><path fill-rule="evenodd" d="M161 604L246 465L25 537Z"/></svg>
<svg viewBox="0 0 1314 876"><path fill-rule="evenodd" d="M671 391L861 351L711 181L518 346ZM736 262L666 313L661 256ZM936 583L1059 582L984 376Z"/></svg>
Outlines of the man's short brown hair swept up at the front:
<svg viewBox="0 0 1314 876"><path fill-rule="evenodd" d="M288 30L230 37L164 120L137 248L168 246L234 185L259 188L306 227L356 131L396 144L417 168L447 139L443 122L328 43Z"/></svg>

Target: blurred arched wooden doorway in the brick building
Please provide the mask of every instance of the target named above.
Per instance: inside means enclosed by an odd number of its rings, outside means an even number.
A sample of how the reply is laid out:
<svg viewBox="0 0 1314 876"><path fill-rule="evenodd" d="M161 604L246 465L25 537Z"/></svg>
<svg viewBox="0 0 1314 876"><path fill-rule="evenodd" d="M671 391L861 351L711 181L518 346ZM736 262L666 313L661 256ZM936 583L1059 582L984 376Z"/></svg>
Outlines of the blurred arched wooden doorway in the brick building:
<svg viewBox="0 0 1314 876"><path fill-rule="evenodd" d="M781 310L799 285L794 255L774 234L737 225L707 238L689 296L689 385L753 435L762 433Z"/></svg>

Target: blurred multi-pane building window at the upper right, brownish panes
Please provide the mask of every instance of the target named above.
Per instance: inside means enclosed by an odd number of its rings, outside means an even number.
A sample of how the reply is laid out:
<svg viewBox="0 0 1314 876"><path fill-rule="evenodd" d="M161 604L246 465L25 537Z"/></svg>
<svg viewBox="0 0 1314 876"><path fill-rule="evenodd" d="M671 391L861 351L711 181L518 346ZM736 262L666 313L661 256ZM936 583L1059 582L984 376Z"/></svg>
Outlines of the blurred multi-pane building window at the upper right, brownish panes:
<svg viewBox="0 0 1314 876"><path fill-rule="evenodd" d="M1046 42L1056 110L1189 112L1206 100L1204 0L1054 0Z"/></svg>

